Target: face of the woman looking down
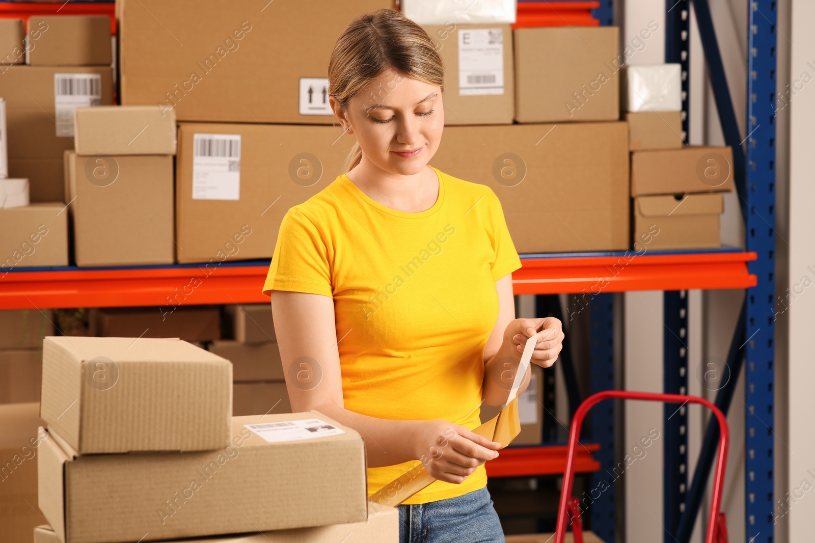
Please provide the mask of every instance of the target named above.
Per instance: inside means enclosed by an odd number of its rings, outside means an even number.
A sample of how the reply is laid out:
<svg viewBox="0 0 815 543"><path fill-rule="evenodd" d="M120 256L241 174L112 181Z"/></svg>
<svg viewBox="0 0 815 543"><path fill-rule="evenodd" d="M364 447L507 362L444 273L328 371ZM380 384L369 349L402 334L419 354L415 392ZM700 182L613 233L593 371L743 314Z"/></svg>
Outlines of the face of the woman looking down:
<svg viewBox="0 0 815 543"><path fill-rule="evenodd" d="M393 174L421 172L444 128L441 89L393 70L374 79L339 113L343 126L350 125L348 132L356 135L363 161Z"/></svg>

